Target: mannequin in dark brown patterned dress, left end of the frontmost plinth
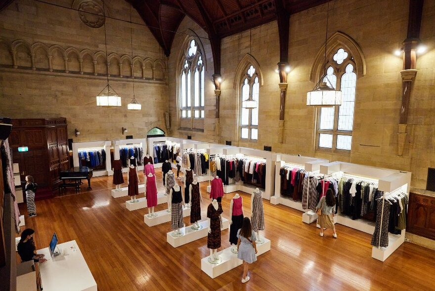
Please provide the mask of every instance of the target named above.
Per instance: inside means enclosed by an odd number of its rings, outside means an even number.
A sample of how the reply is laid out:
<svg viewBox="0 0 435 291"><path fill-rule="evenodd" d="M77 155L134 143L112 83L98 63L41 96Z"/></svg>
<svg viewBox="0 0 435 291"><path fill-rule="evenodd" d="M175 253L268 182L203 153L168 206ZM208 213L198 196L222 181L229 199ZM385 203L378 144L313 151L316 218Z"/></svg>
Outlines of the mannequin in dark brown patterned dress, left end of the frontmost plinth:
<svg viewBox="0 0 435 291"><path fill-rule="evenodd" d="M207 236L207 248L210 249L208 261L217 264L221 258L217 255L217 249L220 248L220 231L222 229L222 205L213 199L207 208L207 220L209 222L209 235Z"/></svg>

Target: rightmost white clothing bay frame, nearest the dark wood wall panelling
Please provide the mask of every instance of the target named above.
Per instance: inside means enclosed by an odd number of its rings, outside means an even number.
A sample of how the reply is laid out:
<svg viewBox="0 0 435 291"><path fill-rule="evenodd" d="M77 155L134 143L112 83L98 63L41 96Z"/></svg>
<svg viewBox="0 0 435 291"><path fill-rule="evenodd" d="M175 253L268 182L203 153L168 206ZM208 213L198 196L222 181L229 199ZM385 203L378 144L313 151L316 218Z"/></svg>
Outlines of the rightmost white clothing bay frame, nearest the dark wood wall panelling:
<svg viewBox="0 0 435 291"><path fill-rule="evenodd" d="M395 190L401 190L409 195L411 184L411 173L398 170L362 166L344 162L332 162L320 165L320 173L325 175L336 175L338 178L346 175L364 180L371 180L378 184L378 190L385 194ZM364 219L355 219L345 215L338 215L337 223L348 227L373 234L375 224ZM400 235L389 233L389 245L386 248L372 248L372 257L378 260L386 260L405 241L405 230ZM368 242L369 243L369 242Z"/></svg>

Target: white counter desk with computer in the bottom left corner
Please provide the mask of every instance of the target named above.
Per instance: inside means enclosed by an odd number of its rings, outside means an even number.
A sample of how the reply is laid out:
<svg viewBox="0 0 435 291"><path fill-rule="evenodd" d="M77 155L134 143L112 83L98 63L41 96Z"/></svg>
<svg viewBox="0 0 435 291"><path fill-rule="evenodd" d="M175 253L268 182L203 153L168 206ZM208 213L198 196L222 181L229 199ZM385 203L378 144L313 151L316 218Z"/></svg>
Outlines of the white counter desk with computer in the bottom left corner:
<svg viewBox="0 0 435 291"><path fill-rule="evenodd" d="M75 250L71 247L75 246ZM38 250L46 262L39 264L44 291L96 291L97 284L76 241L57 246L61 255L50 257L48 248ZM68 249L68 255L62 255Z"/></svg>

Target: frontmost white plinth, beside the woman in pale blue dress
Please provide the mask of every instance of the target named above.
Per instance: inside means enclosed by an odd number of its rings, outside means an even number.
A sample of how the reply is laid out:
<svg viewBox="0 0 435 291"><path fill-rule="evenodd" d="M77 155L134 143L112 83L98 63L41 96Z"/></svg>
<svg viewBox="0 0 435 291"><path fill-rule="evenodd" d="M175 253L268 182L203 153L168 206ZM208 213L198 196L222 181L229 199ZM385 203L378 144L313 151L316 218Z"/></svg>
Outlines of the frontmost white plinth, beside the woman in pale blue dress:
<svg viewBox="0 0 435 291"><path fill-rule="evenodd" d="M225 272L228 272L242 264L242 260L237 258L237 254L231 252L233 247L226 248L220 252L217 252L217 255L222 259L220 263L212 264L208 261L209 256L206 256L201 259L201 270L209 275L212 279L217 276L222 275ZM261 245L257 245L258 254L262 255L267 251L270 251L270 240L264 238L264 243Z"/></svg>

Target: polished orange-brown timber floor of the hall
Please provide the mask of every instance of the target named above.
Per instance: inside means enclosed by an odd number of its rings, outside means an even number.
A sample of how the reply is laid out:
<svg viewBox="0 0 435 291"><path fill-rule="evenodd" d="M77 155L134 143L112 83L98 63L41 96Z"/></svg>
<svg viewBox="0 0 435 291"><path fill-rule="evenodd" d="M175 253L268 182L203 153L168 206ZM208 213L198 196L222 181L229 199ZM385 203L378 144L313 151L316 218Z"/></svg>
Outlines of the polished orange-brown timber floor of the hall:
<svg viewBox="0 0 435 291"><path fill-rule="evenodd" d="M157 171L159 192L162 174ZM124 174L126 175L126 174ZM140 181L143 181L140 175ZM85 183L86 184L86 183ZM208 182L201 183L202 218L210 199ZM209 255L207 238L173 248L166 242L170 222L148 227L147 209L128 211L129 197L112 198L112 177L92 179L93 189L37 201L38 216L27 218L26 227L36 230L38 249L45 248L53 232L59 243L76 240L95 278L98 290L434 290L435 251L404 243L385 262L371 257L371 236L338 225L338 239L327 231L318 235L315 223L302 222L302 213L264 200L266 230L271 251L250 266L251 280L240 282L239 266L215 279L201 271L201 258ZM251 215L251 195L243 197L246 215ZM142 197L141 194L140 197ZM228 218L227 194L222 200ZM166 209L166 204L155 210ZM190 224L189 217L184 218ZM229 230L222 231L222 246L229 247ZM59 289L60 291L61 289Z"/></svg>

